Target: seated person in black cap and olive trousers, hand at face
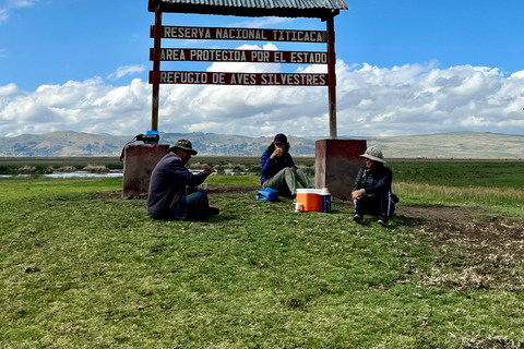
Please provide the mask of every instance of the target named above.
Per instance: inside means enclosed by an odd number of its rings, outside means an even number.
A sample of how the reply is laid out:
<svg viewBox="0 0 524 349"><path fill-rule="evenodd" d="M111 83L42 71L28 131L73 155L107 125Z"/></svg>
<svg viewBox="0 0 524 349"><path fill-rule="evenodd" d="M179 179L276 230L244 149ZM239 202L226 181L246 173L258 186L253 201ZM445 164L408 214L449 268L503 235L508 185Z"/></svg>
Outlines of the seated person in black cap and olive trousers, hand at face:
<svg viewBox="0 0 524 349"><path fill-rule="evenodd" d="M289 143L282 133L275 135L273 143L262 154L260 172L262 188L274 189L282 196L295 197L298 183L303 188L314 188L308 176L295 166Z"/></svg>

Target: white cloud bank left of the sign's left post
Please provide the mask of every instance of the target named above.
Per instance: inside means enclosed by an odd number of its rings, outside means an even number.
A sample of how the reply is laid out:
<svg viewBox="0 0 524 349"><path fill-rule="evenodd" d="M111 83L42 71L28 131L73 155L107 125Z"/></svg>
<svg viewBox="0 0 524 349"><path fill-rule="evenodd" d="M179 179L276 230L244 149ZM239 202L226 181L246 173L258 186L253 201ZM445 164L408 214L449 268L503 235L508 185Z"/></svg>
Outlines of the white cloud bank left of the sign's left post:
<svg viewBox="0 0 524 349"><path fill-rule="evenodd" d="M0 91L5 86L1 86ZM13 93L0 105L0 134L75 130L93 133L134 134L150 121L151 89L134 80L128 86L106 85L100 77L63 85L43 85L26 95ZM151 111L150 111L151 113Z"/></svg>

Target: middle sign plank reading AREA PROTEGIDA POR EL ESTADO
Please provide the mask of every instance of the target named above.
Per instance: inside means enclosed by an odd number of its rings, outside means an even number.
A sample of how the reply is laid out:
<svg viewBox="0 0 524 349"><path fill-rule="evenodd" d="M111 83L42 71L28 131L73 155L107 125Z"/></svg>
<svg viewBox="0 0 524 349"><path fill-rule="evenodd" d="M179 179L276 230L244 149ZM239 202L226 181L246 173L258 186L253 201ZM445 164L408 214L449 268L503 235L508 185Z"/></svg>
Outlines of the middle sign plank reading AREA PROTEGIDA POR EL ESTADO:
<svg viewBox="0 0 524 349"><path fill-rule="evenodd" d="M150 60L154 60L153 48L150 49ZM327 64L327 53L318 51L162 48L160 61Z"/></svg>

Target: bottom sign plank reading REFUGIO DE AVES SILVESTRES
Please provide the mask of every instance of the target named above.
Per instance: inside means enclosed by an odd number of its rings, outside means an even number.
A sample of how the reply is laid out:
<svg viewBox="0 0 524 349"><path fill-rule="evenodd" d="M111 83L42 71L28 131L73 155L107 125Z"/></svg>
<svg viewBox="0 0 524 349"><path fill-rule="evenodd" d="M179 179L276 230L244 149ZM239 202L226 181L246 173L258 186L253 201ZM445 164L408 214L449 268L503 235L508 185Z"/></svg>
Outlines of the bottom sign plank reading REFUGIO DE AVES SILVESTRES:
<svg viewBox="0 0 524 349"><path fill-rule="evenodd" d="M153 71L150 71L150 84L152 82ZM160 71L159 83L242 86L327 86L327 74Z"/></svg>

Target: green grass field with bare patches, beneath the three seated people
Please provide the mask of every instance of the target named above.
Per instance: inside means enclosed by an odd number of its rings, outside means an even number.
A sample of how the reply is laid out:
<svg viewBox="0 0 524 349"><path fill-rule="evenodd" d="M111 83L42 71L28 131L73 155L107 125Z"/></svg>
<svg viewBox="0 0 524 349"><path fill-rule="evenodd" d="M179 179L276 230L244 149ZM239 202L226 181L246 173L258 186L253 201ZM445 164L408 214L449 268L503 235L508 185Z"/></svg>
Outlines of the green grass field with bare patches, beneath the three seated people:
<svg viewBox="0 0 524 349"><path fill-rule="evenodd" d="M390 227L213 176L205 222L121 179L0 180L2 348L522 348L523 165L392 163Z"/></svg>

